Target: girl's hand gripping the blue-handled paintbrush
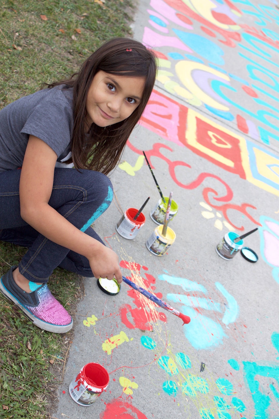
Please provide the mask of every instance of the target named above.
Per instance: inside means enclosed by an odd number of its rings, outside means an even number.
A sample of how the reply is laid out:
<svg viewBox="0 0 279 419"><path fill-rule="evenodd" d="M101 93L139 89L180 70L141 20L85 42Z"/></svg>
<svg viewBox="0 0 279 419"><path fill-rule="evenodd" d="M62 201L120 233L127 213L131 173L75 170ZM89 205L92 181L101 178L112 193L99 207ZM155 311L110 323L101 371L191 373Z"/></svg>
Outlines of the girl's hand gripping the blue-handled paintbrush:
<svg viewBox="0 0 279 419"><path fill-rule="evenodd" d="M97 242L97 246L92 251L92 255L87 256L87 258L95 278L113 279L114 277L117 279L118 284L122 282L118 256L113 250Z"/></svg>

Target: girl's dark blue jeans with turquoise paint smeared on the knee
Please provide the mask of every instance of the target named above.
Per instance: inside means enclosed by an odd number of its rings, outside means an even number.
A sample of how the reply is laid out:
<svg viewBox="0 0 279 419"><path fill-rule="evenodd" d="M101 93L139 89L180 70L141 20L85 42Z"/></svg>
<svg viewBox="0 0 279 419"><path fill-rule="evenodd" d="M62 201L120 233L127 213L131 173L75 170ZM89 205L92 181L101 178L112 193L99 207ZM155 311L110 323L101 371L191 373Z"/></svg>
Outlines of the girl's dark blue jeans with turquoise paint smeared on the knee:
<svg viewBox="0 0 279 419"><path fill-rule="evenodd" d="M92 277L87 258L47 239L20 217L20 172L0 172L0 240L28 248L18 266L20 273L29 281L47 282L53 270L60 266L84 277ZM105 212L112 199L112 184L104 174L91 170L55 169L49 205L101 243L91 224Z"/></svg>

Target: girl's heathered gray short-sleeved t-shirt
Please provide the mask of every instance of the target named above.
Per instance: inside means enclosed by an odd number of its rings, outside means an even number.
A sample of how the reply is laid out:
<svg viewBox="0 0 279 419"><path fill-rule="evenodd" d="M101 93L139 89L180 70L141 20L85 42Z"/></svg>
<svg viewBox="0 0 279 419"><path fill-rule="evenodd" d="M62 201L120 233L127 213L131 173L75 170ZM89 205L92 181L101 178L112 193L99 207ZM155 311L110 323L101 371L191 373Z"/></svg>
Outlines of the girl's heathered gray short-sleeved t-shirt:
<svg viewBox="0 0 279 419"><path fill-rule="evenodd" d="M22 166L29 135L40 138L54 150L58 156L56 166L69 166L59 162L71 156L72 101L72 89L56 86L20 98L2 109L0 172Z"/></svg>

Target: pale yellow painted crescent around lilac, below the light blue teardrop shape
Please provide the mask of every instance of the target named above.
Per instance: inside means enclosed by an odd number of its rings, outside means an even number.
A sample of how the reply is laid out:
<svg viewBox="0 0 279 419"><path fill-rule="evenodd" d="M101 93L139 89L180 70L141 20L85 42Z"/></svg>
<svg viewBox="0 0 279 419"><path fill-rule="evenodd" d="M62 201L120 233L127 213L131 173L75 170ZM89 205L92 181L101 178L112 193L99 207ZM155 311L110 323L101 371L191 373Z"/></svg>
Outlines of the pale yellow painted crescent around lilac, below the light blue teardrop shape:
<svg viewBox="0 0 279 419"><path fill-rule="evenodd" d="M191 73L193 70L197 69L209 72L210 74L220 77L223 80L230 81L230 78L226 74L223 74L214 68L208 67L205 64L201 64L200 62L182 60L177 62L175 65L175 70L180 81L194 96L197 96L197 98L207 105L212 106L212 108L220 109L221 111L228 111L230 109L228 106L225 106L211 98L195 83Z"/></svg>

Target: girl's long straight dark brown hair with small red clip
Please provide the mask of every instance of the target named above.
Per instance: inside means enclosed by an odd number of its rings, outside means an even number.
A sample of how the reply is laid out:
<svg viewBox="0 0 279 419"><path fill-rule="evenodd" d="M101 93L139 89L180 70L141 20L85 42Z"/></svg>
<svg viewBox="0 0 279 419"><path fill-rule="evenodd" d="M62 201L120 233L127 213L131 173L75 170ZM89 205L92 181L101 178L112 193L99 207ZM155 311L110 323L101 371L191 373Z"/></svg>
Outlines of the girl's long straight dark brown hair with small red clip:
<svg viewBox="0 0 279 419"><path fill-rule="evenodd" d="M86 98L95 74L104 71L128 77L146 79L143 96L138 107L126 119L102 128L92 124L88 134L84 132ZM108 174L117 165L125 144L139 121L151 95L156 79L156 58L151 49L130 38L115 38L93 52L71 78L48 84L48 88L66 85L73 88L74 128L71 139L72 158L75 168L87 168Z"/></svg>

